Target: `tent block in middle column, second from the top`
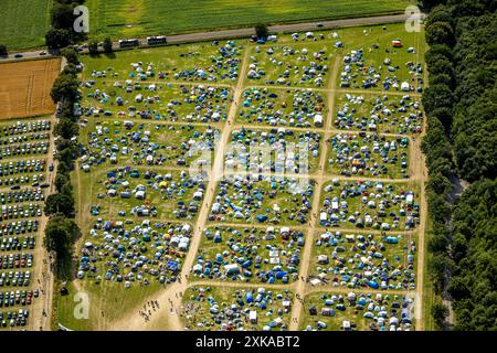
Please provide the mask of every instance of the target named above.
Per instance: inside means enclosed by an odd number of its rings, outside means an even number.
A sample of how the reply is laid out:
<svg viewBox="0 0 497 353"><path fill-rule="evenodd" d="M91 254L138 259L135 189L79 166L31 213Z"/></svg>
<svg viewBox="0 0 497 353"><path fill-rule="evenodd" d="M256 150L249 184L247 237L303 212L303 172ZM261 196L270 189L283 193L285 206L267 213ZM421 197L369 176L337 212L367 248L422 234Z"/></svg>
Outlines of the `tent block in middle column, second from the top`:
<svg viewBox="0 0 497 353"><path fill-rule="evenodd" d="M320 93L313 89L272 92L267 88L251 88L243 93L239 120L271 126L322 127L325 101Z"/></svg>

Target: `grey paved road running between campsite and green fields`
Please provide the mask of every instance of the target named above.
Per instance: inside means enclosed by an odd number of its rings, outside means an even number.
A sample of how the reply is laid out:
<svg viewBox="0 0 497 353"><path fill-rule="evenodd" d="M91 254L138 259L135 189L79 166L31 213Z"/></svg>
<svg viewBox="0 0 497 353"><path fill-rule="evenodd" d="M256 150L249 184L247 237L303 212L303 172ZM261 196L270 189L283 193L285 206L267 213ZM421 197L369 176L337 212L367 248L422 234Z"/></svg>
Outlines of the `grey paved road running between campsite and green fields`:
<svg viewBox="0 0 497 353"><path fill-rule="evenodd" d="M290 23L290 24L277 24L269 26L271 33L281 33L281 32L303 32L303 31L313 31L318 29L330 29L330 28L340 28L340 26L349 26L349 25L361 25L361 24L379 24L379 23L395 23L395 22L404 22L409 18L408 14L389 14L389 15L377 15L369 18L357 18L357 19L343 19L343 20L332 20L332 21L314 21L314 22L305 22L305 23ZM421 18L424 19L425 14L422 13ZM222 30L222 31L212 31L212 32L198 32L198 33L187 33L187 34L178 34L178 35L168 35L167 42L169 44L179 44L179 43L191 43L199 41L213 41L213 40L222 40L222 39L236 39L236 38L246 38L255 34L254 28L244 28L244 29L234 29L234 30ZM146 39L140 40L144 44L142 46L147 46ZM114 49L118 49L118 42L113 43ZM0 57L0 63L9 62L14 60L25 60L25 58L36 58L51 56L51 53L46 53L45 55L40 55L41 51L29 51L24 53L11 53L7 58ZM87 50L84 49L82 53L86 53ZM21 54L22 58L14 57L17 54ZM53 53L56 54L56 53Z"/></svg>

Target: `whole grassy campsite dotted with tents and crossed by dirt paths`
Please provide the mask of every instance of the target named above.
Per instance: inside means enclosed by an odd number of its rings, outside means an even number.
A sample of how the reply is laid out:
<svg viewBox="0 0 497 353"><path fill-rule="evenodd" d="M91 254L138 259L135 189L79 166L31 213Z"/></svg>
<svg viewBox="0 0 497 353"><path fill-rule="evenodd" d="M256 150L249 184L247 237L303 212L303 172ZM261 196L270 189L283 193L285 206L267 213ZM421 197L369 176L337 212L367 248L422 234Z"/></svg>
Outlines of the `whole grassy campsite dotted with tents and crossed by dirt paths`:
<svg viewBox="0 0 497 353"><path fill-rule="evenodd" d="M113 3L134 10L126 36L147 4ZM82 56L74 189L83 237L68 288L95 307L92 320L75 320L62 296L59 321L412 330L402 308L415 306L404 299L417 291L426 211L417 138L426 73L405 64L423 62L422 43L399 23ZM364 87L369 74L350 62L355 76L340 87L343 58L361 47L380 81ZM398 69L379 67L383 53Z"/></svg>

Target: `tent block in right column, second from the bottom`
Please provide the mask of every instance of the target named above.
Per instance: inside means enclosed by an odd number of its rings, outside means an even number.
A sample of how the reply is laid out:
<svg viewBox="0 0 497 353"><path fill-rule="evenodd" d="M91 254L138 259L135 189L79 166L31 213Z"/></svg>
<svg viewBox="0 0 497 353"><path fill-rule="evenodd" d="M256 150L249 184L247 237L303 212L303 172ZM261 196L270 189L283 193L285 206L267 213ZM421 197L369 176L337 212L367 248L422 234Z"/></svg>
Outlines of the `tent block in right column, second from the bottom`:
<svg viewBox="0 0 497 353"><path fill-rule="evenodd" d="M334 286L415 289L416 246L405 243L402 235L321 232L315 239L314 274Z"/></svg>

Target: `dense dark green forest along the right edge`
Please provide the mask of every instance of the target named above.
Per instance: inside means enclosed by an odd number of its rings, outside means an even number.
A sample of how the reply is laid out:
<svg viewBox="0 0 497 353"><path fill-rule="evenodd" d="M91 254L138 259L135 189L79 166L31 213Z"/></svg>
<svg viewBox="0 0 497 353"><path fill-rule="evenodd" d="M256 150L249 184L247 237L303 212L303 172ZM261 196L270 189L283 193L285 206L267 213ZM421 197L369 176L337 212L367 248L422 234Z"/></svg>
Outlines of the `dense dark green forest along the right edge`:
<svg viewBox="0 0 497 353"><path fill-rule="evenodd" d="M427 3L429 2L429 3ZM426 195L432 227L429 274L454 300L458 330L497 329L497 2L425 1L429 87ZM454 203L451 181L473 182ZM440 302L432 314L441 327Z"/></svg>

